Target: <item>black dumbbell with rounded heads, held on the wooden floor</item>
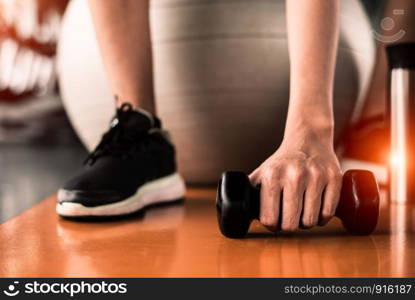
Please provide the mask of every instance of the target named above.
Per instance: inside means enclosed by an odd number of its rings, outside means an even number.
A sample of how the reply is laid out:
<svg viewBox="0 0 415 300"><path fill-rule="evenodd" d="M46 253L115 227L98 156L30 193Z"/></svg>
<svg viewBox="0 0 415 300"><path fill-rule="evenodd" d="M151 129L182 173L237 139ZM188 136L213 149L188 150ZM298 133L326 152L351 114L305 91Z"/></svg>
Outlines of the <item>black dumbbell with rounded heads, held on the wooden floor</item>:
<svg viewBox="0 0 415 300"><path fill-rule="evenodd" d="M259 219L260 188L239 171L222 174L216 194L219 228L228 238L244 237L254 219ZM368 235L375 230L379 216L379 189L375 176L366 170L348 170L336 217L352 234Z"/></svg>

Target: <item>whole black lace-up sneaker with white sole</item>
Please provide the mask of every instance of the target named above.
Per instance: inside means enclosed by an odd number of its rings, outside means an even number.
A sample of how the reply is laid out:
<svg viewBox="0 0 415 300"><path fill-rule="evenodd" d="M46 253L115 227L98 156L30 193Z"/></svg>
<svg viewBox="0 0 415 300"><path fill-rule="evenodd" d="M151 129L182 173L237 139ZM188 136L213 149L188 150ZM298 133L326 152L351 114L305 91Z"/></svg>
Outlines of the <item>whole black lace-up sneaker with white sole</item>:
<svg viewBox="0 0 415 300"><path fill-rule="evenodd" d="M184 197L175 149L160 121L124 103L81 172L58 191L63 217L129 215Z"/></svg>

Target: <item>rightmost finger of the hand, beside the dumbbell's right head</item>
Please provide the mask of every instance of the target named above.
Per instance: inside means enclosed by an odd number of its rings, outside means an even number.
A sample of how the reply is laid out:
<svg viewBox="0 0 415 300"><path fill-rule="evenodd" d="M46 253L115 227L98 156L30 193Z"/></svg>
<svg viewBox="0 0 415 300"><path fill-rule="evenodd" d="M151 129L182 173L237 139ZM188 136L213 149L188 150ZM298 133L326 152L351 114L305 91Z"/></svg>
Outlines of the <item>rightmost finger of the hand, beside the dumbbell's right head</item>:
<svg viewBox="0 0 415 300"><path fill-rule="evenodd" d="M342 187L342 174L340 170L330 170L327 173L328 184L323 194L320 218L318 224L324 226L336 213Z"/></svg>

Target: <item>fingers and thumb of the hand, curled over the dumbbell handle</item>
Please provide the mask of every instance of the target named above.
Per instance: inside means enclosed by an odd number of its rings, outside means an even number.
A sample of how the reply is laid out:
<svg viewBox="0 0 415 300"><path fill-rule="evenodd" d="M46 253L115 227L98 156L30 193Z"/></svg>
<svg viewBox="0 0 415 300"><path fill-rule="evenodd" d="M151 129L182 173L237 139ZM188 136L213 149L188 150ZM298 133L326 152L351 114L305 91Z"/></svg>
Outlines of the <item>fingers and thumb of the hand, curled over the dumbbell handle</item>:
<svg viewBox="0 0 415 300"><path fill-rule="evenodd" d="M271 231L294 231L325 225L334 216L342 183L341 171L316 166L255 170L261 184L260 222Z"/></svg>

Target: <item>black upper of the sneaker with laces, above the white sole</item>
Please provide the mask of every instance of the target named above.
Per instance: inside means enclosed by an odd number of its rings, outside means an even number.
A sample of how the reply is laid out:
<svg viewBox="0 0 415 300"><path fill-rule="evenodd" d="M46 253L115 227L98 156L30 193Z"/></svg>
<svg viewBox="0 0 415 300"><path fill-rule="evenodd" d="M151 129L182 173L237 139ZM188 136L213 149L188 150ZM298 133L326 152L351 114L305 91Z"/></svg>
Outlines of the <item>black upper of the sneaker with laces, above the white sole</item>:
<svg viewBox="0 0 415 300"><path fill-rule="evenodd" d="M63 186L59 201L89 206L116 202L175 171L175 150L160 121L123 104L82 170Z"/></svg>

